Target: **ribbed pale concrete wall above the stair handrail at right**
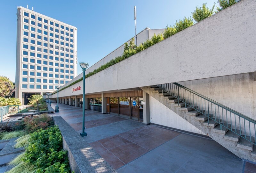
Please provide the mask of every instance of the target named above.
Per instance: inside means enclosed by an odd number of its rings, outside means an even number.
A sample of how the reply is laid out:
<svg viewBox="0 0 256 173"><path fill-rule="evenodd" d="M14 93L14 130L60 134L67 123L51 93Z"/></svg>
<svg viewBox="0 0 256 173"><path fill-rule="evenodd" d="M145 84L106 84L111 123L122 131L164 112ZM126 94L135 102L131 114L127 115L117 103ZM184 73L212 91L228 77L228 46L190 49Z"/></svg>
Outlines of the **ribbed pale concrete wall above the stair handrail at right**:
<svg viewBox="0 0 256 173"><path fill-rule="evenodd" d="M256 82L253 78L253 73L245 73L179 83L247 117L256 119ZM242 122L242 129L243 127ZM249 126L246 131L249 133Z"/></svg>

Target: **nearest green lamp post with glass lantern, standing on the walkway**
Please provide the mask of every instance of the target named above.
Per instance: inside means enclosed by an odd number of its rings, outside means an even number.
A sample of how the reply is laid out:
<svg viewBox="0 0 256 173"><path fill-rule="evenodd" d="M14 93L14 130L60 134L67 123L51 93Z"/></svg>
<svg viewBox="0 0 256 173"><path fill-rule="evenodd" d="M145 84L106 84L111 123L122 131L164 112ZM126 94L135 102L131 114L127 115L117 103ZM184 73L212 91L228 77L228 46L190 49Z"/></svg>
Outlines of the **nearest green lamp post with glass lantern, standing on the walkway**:
<svg viewBox="0 0 256 173"><path fill-rule="evenodd" d="M87 136L87 133L85 132L85 126L84 126L84 110L85 110L85 70L88 68L89 64L80 62L80 67L83 69L83 132L80 133L80 136Z"/></svg>

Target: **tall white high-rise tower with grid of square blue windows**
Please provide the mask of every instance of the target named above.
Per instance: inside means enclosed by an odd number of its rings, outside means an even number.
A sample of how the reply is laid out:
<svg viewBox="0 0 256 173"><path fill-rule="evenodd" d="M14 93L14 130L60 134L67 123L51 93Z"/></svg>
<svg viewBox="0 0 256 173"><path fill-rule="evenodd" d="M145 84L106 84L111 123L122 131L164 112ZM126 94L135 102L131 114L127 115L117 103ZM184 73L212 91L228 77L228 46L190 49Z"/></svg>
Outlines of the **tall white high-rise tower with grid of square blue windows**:
<svg viewBox="0 0 256 173"><path fill-rule="evenodd" d="M77 76L77 29L17 7L15 97L53 92Z"/></svg>

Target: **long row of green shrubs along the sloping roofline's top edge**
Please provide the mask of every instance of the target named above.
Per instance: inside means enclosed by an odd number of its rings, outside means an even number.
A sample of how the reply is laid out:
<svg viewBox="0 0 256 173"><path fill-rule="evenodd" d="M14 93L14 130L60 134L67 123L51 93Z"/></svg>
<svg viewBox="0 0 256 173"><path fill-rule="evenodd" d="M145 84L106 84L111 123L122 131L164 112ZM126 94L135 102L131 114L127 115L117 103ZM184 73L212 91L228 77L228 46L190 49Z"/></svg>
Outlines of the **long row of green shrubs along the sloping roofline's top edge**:
<svg viewBox="0 0 256 173"><path fill-rule="evenodd" d="M240 0L218 0L220 7L217 6L217 11L215 11L215 12L219 12L233 4L236 4L238 1L240 1ZM134 38L132 38L129 45L128 45L128 43L124 43L124 53L122 54L122 56L117 56L114 59L107 62L106 64L103 64L99 68L94 69L92 72L86 74L85 78L90 77L90 76L92 76L92 75L120 62L120 61L123 61L126 58L129 58L130 56L132 56L136 53L139 53L140 51L143 51L144 49L147 49L148 47L150 47L164 39L167 39L168 37L176 34L177 32L180 32L180 31L194 25L194 21L200 22L201 20L204 20L205 18L212 16L215 13L213 11L214 7L215 7L215 4L212 6L212 8L209 9L209 7L206 7L206 3L203 3L202 7L196 6L196 10L194 12L192 12L192 18L184 17L183 19L180 19L179 21L176 20L176 23L173 26L166 25L166 28L165 28L163 34L158 34L158 35L154 34L154 36L152 36L151 39L147 40L144 43L141 43L138 46L136 46L134 44ZM65 87L61 87L59 91L64 90L82 80L83 80L83 77L70 83L69 85L67 85Z"/></svg>

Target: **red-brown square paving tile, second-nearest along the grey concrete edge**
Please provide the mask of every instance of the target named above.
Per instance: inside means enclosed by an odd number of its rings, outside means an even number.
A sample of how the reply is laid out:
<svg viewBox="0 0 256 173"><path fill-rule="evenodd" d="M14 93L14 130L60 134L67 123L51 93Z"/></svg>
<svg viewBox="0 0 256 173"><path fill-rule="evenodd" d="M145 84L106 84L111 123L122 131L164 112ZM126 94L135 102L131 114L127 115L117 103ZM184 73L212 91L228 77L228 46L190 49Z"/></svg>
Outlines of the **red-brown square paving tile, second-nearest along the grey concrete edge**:
<svg viewBox="0 0 256 173"><path fill-rule="evenodd" d="M116 148L112 148L109 151L113 153L121 161L123 161L125 164L132 162L133 160L148 152L147 149L142 148L139 145L132 142L127 142Z"/></svg>

